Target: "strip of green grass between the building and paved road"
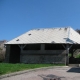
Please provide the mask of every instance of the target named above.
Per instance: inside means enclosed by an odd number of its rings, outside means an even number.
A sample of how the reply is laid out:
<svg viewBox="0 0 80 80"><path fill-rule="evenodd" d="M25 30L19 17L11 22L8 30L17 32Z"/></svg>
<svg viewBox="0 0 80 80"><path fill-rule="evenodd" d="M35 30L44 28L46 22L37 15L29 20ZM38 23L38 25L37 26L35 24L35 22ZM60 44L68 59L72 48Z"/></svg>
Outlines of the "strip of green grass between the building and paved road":
<svg viewBox="0 0 80 80"><path fill-rule="evenodd" d="M0 75L40 67L64 66L63 64L10 64L0 63Z"/></svg>

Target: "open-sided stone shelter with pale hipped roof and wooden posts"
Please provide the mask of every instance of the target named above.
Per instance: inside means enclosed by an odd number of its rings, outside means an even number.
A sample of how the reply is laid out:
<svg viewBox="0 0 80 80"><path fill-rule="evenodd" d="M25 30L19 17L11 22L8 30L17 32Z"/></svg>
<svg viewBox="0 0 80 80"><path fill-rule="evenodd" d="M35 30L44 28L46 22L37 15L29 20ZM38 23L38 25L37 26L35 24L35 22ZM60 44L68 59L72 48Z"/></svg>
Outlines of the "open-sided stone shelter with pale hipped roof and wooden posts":
<svg viewBox="0 0 80 80"><path fill-rule="evenodd" d="M33 29L7 42L5 62L64 63L80 48L80 35L71 27Z"/></svg>

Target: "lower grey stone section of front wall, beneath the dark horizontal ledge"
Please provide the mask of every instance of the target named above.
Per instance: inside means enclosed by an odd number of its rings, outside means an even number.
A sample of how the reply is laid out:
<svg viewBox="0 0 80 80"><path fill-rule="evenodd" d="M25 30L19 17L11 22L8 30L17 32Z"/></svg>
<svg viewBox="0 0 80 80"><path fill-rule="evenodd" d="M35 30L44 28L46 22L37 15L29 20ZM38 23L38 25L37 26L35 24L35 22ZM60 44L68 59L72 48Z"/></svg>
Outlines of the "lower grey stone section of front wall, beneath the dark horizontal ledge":
<svg viewBox="0 0 80 80"><path fill-rule="evenodd" d="M21 55L21 63L65 63L65 56Z"/></svg>

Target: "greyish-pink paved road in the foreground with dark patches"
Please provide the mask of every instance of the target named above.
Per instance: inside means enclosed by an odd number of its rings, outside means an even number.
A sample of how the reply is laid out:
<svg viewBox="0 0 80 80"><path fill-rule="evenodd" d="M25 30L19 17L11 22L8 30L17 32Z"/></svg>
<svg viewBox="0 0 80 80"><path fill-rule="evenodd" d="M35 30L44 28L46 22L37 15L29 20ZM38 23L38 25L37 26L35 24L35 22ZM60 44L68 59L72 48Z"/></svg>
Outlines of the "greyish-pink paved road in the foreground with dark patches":
<svg viewBox="0 0 80 80"><path fill-rule="evenodd" d="M3 78L0 80L80 80L80 68L48 68Z"/></svg>

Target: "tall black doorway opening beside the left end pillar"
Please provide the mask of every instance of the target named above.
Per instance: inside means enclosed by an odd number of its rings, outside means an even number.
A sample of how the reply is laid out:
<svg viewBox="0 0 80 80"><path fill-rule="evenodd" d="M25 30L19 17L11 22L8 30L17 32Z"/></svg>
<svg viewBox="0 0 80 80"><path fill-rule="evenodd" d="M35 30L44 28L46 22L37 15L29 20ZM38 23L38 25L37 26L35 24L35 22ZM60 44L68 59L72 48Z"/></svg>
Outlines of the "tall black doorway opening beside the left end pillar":
<svg viewBox="0 0 80 80"><path fill-rule="evenodd" d="M10 63L19 63L20 62L20 48L18 45L10 46Z"/></svg>

